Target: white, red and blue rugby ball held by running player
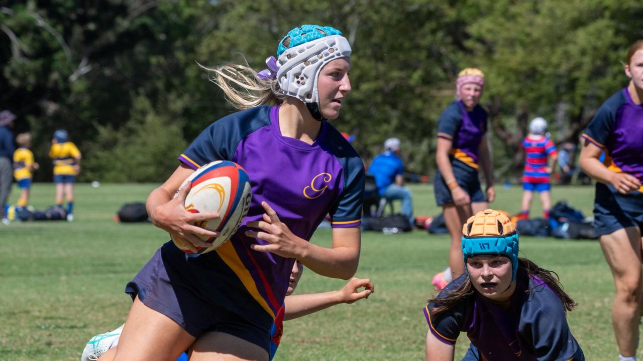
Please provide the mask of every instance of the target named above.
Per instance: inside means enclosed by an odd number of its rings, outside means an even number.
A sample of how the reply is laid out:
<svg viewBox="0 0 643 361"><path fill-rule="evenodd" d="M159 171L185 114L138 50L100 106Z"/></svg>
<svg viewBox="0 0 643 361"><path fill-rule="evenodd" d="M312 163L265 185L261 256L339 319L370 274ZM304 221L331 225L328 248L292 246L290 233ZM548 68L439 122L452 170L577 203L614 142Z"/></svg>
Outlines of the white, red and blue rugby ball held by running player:
<svg viewBox="0 0 643 361"><path fill-rule="evenodd" d="M210 247L197 247L197 253L204 254L217 249L237 232L237 228L248 213L252 190L248 173L239 164L231 161L208 163L188 177L179 189L192 182L185 198L185 209L192 213L217 212L219 218L195 222L194 225L219 232L218 237L199 236ZM174 195L176 197L179 194ZM172 242L186 253L190 251L185 244L172 237Z"/></svg>

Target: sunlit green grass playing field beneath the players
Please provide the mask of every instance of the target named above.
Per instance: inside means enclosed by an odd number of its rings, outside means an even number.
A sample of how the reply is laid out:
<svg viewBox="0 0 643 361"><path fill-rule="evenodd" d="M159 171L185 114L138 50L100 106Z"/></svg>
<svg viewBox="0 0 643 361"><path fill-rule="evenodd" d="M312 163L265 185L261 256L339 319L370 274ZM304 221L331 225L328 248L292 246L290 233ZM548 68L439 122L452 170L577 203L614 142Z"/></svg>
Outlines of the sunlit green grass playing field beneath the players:
<svg viewBox="0 0 643 361"><path fill-rule="evenodd" d="M168 237L150 224L119 224L113 217L123 203L144 201L155 186L77 184L74 222L0 227L0 360L78 360L89 338L122 324L131 304L125 283ZM429 186L411 188L416 215L439 213ZM18 193L14 188L12 204ZM493 207L519 210L520 188L497 193ZM592 214L593 187L558 187L552 196ZM35 184L31 203L39 209L51 205L53 185ZM532 215L539 214L536 204ZM320 229L312 242L329 246L331 231ZM446 267L448 246L448 236L419 230L364 233L356 276L370 277L376 292L365 301L286 322L275 360L422 360L422 308L434 294L431 277ZM568 320L587 360L616 359L613 282L599 243L521 237L520 247L523 256L555 270L579 303ZM342 285L307 270L296 292ZM467 346L462 335L457 355Z"/></svg>

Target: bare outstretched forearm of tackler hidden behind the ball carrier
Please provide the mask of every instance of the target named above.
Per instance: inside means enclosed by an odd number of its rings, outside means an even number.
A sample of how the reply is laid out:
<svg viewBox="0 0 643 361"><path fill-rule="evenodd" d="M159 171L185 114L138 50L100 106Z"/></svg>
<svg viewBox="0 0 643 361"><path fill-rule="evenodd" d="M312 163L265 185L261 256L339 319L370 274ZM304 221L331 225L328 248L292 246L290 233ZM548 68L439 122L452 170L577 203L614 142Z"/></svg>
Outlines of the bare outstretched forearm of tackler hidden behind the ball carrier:
<svg viewBox="0 0 643 361"><path fill-rule="evenodd" d="M354 303L360 299L368 298L374 290L370 279L353 277L340 290L321 294L286 296L284 321L310 315L336 304Z"/></svg>

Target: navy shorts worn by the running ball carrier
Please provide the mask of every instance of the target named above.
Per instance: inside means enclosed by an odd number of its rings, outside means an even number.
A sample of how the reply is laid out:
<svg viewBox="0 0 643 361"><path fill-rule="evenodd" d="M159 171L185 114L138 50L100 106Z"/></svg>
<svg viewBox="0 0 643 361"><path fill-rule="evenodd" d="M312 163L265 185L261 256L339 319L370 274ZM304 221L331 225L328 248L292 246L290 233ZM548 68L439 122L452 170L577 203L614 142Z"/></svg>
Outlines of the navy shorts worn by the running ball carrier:
<svg viewBox="0 0 643 361"><path fill-rule="evenodd" d="M194 337L223 332L252 342L270 355L270 326L248 319L207 301L196 292L186 276L163 260L161 249L125 286L132 300L138 298L157 312L170 317Z"/></svg>

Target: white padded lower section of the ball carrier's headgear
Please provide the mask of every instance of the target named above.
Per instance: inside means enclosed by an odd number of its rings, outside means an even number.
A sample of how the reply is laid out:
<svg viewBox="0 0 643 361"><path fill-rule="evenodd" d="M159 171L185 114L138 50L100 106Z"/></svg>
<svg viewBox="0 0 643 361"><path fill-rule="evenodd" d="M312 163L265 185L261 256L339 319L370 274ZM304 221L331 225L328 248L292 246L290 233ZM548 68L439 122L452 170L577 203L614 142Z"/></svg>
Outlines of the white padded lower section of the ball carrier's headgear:
<svg viewBox="0 0 643 361"><path fill-rule="evenodd" d="M349 40L331 35L285 50L277 60L277 82L281 91L304 103L318 103L317 78L331 60L350 57Z"/></svg>

